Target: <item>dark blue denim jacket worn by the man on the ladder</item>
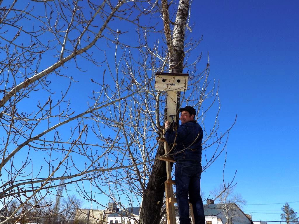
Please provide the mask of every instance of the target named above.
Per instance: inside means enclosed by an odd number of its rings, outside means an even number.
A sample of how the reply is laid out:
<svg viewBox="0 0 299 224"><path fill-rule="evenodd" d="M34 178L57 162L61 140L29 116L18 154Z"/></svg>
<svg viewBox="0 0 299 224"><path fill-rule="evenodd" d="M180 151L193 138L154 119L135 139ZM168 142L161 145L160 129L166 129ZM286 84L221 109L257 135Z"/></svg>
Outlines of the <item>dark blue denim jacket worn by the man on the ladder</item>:
<svg viewBox="0 0 299 224"><path fill-rule="evenodd" d="M176 143L173 151L174 159L202 160L202 128L196 121L186 122L176 131L167 130L164 137L168 144Z"/></svg>

